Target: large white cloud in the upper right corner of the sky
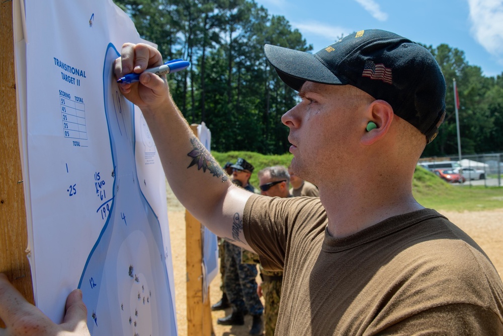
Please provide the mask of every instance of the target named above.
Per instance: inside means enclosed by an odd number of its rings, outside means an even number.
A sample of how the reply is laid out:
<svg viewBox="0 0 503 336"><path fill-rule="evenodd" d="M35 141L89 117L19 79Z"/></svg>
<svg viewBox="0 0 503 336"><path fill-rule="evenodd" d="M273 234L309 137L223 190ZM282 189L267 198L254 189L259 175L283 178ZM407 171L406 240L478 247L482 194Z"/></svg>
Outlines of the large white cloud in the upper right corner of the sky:
<svg viewBox="0 0 503 336"><path fill-rule="evenodd" d="M503 0L468 0L468 5L473 37L503 63Z"/></svg>

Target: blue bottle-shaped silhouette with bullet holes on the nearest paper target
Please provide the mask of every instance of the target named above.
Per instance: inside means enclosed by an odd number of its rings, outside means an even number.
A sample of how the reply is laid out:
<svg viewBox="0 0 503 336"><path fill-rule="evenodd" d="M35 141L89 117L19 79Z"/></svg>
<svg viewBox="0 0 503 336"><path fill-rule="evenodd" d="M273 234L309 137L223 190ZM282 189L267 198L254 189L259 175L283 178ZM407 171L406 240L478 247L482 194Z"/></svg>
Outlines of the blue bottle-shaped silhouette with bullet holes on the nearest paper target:
<svg viewBox="0 0 503 336"><path fill-rule="evenodd" d="M78 288L88 308L93 336L142 335L144 330L152 335L176 335L160 224L141 191L136 171L134 107L120 94L113 76L112 64L119 56L109 43L103 88L113 194L97 211L104 211L108 217L88 256Z"/></svg>

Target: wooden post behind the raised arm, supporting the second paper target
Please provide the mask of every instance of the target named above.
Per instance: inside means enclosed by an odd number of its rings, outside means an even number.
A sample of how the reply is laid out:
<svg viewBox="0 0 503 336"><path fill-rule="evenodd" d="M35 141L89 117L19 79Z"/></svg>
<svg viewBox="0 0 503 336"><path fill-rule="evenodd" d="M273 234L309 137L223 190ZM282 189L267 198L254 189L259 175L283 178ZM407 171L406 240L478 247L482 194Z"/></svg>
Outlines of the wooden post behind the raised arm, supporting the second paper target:
<svg viewBox="0 0 503 336"><path fill-rule="evenodd" d="M197 124L191 129L197 136ZM187 242L187 334L209 336L213 334L209 288L203 298L203 240L202 225L188 211L185 213Z"/></svg>

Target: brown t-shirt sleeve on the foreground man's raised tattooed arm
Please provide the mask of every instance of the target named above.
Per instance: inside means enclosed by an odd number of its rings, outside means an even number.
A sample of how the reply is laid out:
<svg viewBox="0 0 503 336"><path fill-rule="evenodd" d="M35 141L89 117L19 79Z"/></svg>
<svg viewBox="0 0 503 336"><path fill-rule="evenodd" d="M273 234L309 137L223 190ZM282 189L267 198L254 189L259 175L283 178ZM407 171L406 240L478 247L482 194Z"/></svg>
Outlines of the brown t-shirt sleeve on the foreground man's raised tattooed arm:
<svg viewBox="0 0 503 336"><path fill-rule="evenodd" d="M244 208L244 237L266 270L282 271L292 239L305 236L313 219L325 218L319 198L252 195Z"/></svg>

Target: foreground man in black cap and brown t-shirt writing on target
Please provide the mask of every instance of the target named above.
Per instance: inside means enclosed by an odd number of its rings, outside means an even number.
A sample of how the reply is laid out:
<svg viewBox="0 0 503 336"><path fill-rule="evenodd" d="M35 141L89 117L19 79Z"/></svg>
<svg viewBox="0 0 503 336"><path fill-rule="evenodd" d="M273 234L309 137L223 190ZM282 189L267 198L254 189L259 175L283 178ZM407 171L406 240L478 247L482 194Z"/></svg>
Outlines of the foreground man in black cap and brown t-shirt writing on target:
<svg viewBox="0 0 503 336"><path fill-rule="evenodd" d="M432 54L382 30L358 31L316 54L272 45L265 52L302 99L282 122L292 167L319 198L251 194L216 163L209 172L187 168L187 153L202 146L165 79L144 73L120 88L142 109L182 204L218 236L257 252L265 268L284 270L276 334L503 334L494 266L412 195L417 160L445 116ZM116 76L162 63L142 44L125 44L121 55ZM12 295L5 283L2 292Z"/></svg>

